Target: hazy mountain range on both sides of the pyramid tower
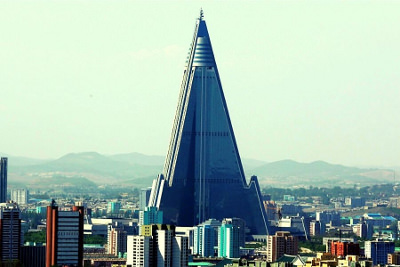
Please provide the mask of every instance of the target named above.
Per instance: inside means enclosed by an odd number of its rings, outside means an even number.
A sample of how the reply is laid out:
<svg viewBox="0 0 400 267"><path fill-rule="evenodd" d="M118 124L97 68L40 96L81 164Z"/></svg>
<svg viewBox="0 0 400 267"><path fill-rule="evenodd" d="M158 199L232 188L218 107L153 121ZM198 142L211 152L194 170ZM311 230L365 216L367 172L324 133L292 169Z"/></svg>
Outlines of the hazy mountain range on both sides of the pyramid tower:
<svg viewBox="0 0 400 267"><path fill-rule="evenodd" d="M4 155L4 154L2 154ZM148 187L162 172L164 157L140 153L102 155L97 152L71 153L56 160L9 157L9 186L68 187L104 184ZM393 182L394 173L329 164L323 161L299 163L282 160L267 163L243 159L248 177L258 176L261 187L353 186Z"/></svg>

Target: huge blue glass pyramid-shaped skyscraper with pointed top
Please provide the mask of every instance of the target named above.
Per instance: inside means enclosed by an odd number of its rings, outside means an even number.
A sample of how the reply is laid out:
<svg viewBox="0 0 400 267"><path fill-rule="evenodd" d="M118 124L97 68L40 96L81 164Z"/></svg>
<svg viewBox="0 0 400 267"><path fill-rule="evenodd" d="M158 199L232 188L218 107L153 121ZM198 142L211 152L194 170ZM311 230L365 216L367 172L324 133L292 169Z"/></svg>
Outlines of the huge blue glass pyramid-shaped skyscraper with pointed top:
<svg viewBox="0 0 400 267"><path fill-rule="evenodd" d="M202 12L183 75L163 174L149 206L164 223L193 226L207 219L242 218L252 234L267 234L256 177L246 182Z"/></svg>

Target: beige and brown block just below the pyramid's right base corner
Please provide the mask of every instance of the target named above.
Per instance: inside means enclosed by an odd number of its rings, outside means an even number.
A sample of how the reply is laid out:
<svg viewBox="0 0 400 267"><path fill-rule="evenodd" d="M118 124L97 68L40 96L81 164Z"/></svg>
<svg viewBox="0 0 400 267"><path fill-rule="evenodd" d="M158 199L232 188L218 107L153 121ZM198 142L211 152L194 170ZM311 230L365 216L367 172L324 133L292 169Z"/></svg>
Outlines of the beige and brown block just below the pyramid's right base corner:
<svg viewBox="0 0 400 267"><path fill-rule="evenodd" d="M267 237L267 261L274 262L283 254L297 255L298 241L297 237L292 236L290 232L278 231L275 235Z"/></svg>

